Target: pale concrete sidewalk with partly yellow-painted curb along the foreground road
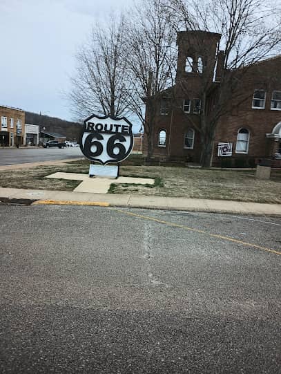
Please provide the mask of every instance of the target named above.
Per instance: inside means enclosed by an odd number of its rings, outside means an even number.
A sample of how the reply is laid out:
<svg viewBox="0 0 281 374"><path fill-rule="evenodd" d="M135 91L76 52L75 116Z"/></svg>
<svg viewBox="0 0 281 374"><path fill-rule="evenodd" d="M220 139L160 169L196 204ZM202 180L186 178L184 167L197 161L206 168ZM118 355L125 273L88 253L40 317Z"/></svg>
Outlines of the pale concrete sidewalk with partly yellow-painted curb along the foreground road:
<svg viewBox="0 0 281 374"><path fill-rule="evenodd" d="M90 194L72 191L47 191L43 189L13 189L0 187L0 202L43 204L79 204L111 207L136 207L150 209L184 210L190 212L215 212L258 216L281 216L280 204L242 203L230 200L196 198L170 198L162 196L137 196L119 194Z"/></svg>

